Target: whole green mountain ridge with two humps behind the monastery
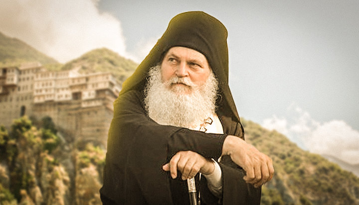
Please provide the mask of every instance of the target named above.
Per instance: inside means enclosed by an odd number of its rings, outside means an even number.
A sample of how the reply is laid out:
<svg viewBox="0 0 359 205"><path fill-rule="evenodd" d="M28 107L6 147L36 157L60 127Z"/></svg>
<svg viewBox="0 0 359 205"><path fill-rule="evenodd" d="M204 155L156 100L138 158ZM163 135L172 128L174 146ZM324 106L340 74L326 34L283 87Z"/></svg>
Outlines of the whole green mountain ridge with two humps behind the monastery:
<svg viewBox="0 0 359 205"><path fill-rule="evenodd" d="M118 53L97 48L65 64L37 51L25 42L8 37L0 32L0 67L19 66L22 63L37 61L51 71L78 69L80 73L111 72L119 82L123 82L136 69L138 64Z"/></svg>

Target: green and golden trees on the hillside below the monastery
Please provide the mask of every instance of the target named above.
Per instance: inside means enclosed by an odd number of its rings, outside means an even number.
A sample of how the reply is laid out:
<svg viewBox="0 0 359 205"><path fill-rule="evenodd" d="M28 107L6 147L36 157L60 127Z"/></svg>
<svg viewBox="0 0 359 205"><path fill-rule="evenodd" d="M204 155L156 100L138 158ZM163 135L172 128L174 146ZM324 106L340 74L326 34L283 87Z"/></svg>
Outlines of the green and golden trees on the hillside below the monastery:
<svg viewBox="0 0 359 205"><path fill-rule="evenodd" d="M98 205L105 150L66 143L52 120L0 127L1 205Z"/></svg>

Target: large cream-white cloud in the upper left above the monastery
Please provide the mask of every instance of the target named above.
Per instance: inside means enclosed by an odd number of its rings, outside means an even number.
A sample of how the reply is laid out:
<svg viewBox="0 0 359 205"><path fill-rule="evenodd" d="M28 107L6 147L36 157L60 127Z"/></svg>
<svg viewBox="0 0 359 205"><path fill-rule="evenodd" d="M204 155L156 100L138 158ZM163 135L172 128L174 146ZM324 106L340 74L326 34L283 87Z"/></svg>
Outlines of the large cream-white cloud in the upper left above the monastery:
<svg viewBox="0 0 359 205"><path fill-rule="evenodd" d="M121 23L98 0L1 0L0 31L66 62L95 48L126 52Z"/></svg>

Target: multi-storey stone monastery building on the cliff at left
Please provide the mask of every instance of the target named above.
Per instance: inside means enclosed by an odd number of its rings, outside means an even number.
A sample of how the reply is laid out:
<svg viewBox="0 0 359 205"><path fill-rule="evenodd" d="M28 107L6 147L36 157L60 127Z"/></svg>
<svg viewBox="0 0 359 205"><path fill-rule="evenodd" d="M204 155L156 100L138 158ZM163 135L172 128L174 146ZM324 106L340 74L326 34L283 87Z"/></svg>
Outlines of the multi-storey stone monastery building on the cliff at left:
<svg viewBox="0 0 359 205"><path fill-rule="evenodd" d="M111 73L50 72L40 64L0 68L0 124L27 115L52 118L67 142L107 147L120 84Z"/></svg>

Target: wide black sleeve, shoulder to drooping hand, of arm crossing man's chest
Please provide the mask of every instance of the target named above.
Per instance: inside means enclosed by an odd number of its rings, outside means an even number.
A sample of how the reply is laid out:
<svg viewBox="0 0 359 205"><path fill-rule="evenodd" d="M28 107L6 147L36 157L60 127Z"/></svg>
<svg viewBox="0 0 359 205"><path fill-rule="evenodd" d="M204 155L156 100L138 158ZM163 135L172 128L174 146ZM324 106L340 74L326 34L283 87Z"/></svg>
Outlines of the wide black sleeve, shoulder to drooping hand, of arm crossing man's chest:
<svg viewBox="0 0 359 205"><path fill-rule="evenodd" d="M108 135L103 202L172 204L169 177L162 170L168 151L191 150L218 158L225 137L159 125L145 114L140 92L121 95L114 103Z"/></svg>

